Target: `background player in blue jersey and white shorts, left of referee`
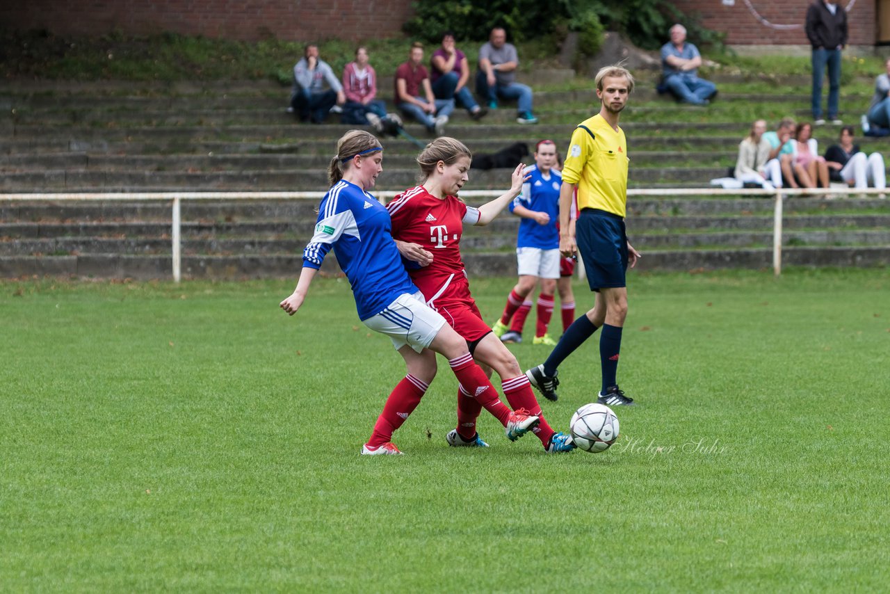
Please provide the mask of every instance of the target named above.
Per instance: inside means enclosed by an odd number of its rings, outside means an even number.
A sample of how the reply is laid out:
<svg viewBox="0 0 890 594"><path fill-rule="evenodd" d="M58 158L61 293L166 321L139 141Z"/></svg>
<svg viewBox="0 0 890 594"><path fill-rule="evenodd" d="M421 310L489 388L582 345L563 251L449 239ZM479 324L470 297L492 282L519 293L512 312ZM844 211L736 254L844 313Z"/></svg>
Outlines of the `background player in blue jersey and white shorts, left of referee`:
<svg viewBox="0 0 890 594"><path fill-rule="evenodd" d="M547 335L547 326L554 311L556 280L560 278L559 192L562 174L557 171L556 145L543 140L535 147L535 165L525 171L529 180L522 186L522 194L510 204L510 211L521 216L516 238L516 261L519 282L507 296L504 313L491 330L504 342L522 342L523 313L514 318L540 281L538 294L538 324L534 344L554 346ZM509 325L511 320L512 325Z"/></svg>

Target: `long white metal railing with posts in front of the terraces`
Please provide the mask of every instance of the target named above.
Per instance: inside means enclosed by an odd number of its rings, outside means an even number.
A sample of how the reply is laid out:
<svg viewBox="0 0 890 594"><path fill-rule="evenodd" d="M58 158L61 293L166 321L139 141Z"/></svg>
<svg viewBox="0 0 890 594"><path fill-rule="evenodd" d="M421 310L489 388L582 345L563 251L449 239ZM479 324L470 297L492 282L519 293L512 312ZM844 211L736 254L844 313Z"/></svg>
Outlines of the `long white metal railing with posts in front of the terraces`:
<svg viewBox="0 0 890 594"><path fill-rule="evenodd" d="M164 191L164 192L115 192L115 193L0 193L0 201L78 201L78 200L104 200L104 201L141 201L141 200L170 200L173 209L173 228L171 232L173 278L175 282L182 280L182 200L270 200L270 199L321 199L325 191ZM401 191L376 191L377 198L392 198ZM495 198L503 191L499 190L470 190L462 191L462 198ZM853 196L853 195L881 195L886 190L869 188L867 190L855 190L852 188L828 188L819 190L762 190L757 188L742 190L723 190L709 188L659 188L628 190L627 197L634 196L772 196L773 205L773 273L781 274L781 218L782 199L787 196Z"/></svg>

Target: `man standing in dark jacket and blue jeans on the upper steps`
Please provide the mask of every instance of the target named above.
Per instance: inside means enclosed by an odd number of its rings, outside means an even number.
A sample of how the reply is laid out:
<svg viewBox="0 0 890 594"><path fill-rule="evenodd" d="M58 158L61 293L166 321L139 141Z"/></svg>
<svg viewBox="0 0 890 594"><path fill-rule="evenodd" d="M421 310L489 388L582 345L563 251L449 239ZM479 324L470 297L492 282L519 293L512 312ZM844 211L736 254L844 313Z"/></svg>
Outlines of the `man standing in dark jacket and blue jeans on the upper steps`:
<svg viewBox="0 0 890 594"><path fill-rule="evenodd" d="M819 0L806 10L806 37L813 46L813 119L816 126L822 118L822 76L829 70L829 119L837 119L837 95L840 93L840 51L846 45L846 11L837 0Z"/></svg>

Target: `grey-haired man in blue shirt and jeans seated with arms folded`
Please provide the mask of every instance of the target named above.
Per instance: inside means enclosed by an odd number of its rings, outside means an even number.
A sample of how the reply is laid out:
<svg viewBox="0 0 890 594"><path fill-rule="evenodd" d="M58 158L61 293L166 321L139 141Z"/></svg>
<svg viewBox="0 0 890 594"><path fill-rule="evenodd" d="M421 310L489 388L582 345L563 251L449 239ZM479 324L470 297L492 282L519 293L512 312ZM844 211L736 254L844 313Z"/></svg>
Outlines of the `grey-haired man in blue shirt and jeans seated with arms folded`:
<svg viewBox="0 0 890 594"><path fill-rule="evenodd" d="M677 23L670 28L670 41L661 46L662 85L677 99L692 105L708 105L716 94L714 83L698 77L699 48L686 43L686 28Z"/></svg>

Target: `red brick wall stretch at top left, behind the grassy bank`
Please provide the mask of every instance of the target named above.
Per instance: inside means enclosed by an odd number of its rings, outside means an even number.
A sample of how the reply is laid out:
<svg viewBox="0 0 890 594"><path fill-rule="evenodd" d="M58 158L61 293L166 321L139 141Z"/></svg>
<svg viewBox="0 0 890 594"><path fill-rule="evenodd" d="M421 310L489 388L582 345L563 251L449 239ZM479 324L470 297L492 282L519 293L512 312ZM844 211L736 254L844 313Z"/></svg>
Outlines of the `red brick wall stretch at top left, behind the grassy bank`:
<svg viewBox="0 0 890 594"><path fill-rule="evenodd" d="M255 40L351 40L393 36L410 0L4 0L0 28L55 35L187 35Z"/></svg>

